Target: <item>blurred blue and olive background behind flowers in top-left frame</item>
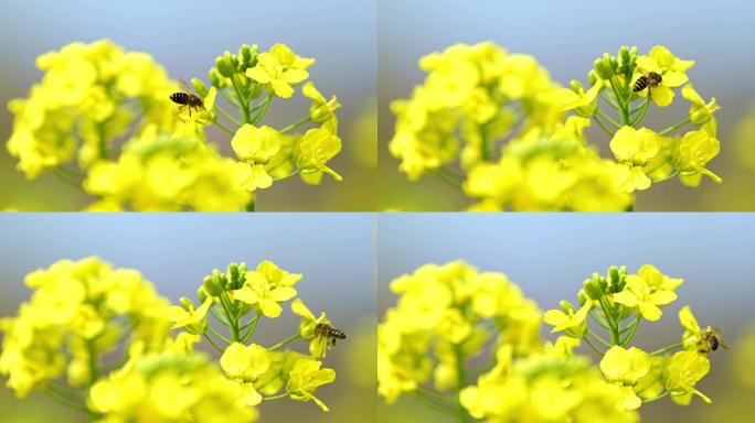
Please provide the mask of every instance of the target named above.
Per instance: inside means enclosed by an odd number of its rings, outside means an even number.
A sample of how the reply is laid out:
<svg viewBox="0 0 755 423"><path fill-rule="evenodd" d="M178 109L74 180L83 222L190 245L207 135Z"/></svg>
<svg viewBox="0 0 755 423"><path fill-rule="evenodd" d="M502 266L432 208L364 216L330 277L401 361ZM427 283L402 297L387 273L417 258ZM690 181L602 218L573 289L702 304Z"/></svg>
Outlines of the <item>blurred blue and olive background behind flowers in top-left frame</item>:
<svg viewBox="0 0 755 423"><path fill-rule="evenodd" d="M42 72L36 56L71 42L108 37L126 50L151 54L172 78L206 79L215 57L243 43L260 51L286 43L315 57L310 79L328 98L338 96L342 151L331 163L344 177L320 186L290 178L257 197L258 210L374 210L376 151L376 0L9 0L0 13L0 209L77 210L92 199L45 174L34 182L14 170L8 154L10 99L26 96ZM311 100L274 104L265 123L285 127L306 116ZM209 134L230 152L224 132Z"/></svg>

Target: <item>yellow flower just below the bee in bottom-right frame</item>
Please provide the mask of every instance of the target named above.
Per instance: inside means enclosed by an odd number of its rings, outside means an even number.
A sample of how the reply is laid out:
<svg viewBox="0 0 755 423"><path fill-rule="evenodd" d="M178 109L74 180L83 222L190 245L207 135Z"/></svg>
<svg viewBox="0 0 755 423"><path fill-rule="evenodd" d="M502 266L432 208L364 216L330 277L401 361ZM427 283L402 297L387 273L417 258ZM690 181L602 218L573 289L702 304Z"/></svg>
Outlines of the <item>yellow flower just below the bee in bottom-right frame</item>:
<svg viewBox="0 0 755 423"><path fill-rule="evenodd" d="M695 350L684 350L673 355L669 360L666 389L671 392L671 398L679 404L687 405L692 401L692 395L700 397L706 403L711 399L694 389L694 386L711 370L711 362L704 355Z"/></svg>

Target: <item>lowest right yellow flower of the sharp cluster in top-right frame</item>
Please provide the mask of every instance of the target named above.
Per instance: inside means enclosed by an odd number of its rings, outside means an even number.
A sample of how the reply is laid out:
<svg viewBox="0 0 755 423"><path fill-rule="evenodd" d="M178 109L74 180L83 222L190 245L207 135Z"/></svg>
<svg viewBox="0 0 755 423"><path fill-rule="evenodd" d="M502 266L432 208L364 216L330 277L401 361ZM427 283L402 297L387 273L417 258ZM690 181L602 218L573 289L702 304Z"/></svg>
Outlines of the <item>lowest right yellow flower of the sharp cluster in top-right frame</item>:
<svg viewBox="0 0 755 423"><path fill-rule="evenodd" d="M677 167L681 174L681 182L689 186L698 186L702 175L713 182L721 183L719 175L705 167L708 162L719 155L721 142L705 131L690 131L679 142Z"/></svg>

